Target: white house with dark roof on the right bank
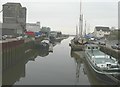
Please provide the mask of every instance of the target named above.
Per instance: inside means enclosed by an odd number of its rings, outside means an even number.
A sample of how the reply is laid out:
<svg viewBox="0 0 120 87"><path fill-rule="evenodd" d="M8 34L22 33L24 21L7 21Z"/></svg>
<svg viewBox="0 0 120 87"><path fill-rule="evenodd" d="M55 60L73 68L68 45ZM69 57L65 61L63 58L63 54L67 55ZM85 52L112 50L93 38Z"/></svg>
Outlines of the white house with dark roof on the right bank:
<svg viewBox="0 0 120 87"><path fill-rule="evenodd" d="M94 37L103 38L105 35L110 35L110 28L109 27L95 27Z"/></svg>

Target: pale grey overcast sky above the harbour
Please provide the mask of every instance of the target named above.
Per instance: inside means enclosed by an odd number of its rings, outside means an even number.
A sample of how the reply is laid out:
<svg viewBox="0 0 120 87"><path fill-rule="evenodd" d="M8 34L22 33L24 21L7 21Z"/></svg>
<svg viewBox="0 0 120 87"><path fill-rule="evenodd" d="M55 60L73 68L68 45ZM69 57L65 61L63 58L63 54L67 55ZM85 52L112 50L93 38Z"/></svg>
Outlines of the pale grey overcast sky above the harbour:
<svg viewBox="0 0 120 87"><path fill-rule="evenodd" d="M75 34L80 14L80 0L0 0L19 2L27 8L27 22L41 22L41 26L48 26L52 30ZM119 0L84 0L82 13L87 21L87 32L93 31L95 26L118 27ZM2 13L0 13L2 21Z"/></svg>

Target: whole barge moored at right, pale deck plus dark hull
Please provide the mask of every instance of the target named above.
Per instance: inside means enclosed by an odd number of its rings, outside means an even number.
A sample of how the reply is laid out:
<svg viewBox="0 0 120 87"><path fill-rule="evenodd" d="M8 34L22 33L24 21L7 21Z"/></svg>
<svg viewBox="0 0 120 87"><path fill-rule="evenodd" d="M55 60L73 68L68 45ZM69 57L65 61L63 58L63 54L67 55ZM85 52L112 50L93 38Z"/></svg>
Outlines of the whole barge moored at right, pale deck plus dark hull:
<svg viewBox="0 0 120 87"><path fill-rule="evenodd" d="M120 76L120 64L118 60L100 51L100 47L95 44L85 46L85 59L88 66L96 74L96 77L107 82L117 84L120 81L114 75Z"/></svg>

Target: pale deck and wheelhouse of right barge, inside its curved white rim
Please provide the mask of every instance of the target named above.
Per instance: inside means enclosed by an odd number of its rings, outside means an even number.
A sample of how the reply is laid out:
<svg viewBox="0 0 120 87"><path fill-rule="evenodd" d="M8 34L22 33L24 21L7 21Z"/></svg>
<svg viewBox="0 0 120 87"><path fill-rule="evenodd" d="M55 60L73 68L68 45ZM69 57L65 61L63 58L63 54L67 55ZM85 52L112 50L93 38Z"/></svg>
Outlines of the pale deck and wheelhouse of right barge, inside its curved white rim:
<svg viewBox="0 0 120 87"><path fill-rule="evenodd" d="M103 53L99 49L100 47L98 45L86 45L85 54L90 63L97 68L101 68L102 70L120 70L120 65L118 64L117 59Z"/></svg>

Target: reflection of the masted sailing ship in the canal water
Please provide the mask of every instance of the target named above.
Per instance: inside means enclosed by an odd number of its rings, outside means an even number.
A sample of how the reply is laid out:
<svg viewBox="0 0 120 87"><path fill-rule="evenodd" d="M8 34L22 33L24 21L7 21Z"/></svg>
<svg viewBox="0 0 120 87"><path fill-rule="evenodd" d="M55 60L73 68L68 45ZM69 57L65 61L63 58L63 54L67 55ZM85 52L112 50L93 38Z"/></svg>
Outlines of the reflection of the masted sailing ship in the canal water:
<svg viewBox="0 0 120 87"><path fill-rule="evenodd" d="M82 55L82 52L76 52L71 50L71 57L74 58L75 61L75 67L76 67L76 81L75 85L90 85L86 72L84 70L84 60L82 56L80 57L79 55Z"/></svg>

